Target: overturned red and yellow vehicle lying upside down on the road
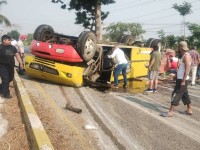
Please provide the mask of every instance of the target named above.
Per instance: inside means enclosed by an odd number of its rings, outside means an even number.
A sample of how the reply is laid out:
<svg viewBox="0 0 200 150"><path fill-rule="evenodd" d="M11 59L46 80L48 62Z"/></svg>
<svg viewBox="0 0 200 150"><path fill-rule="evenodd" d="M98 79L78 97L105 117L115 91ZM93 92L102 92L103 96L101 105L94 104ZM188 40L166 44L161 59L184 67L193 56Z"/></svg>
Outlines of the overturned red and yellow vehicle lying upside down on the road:
<svg viewBox="0 0 200 150"><path fill-rule="evenodd" d="M146 47L141 47L131 36L122 36L119 40L119 47L129 59L127 78L146 76L145 65L149 62L151 47L161 46L161 41L151 38ZM135 46L138 43L140 46ZM35 56L26 56L25 70L29 76L70 86L80 87L86 82L108 85L114 81L114 62L107 55L112 53L115 44L98 43L91 31L74 37L55 33L49 25L40 25L30 46ZM122 78L120 75L119 79Z"/></svg>

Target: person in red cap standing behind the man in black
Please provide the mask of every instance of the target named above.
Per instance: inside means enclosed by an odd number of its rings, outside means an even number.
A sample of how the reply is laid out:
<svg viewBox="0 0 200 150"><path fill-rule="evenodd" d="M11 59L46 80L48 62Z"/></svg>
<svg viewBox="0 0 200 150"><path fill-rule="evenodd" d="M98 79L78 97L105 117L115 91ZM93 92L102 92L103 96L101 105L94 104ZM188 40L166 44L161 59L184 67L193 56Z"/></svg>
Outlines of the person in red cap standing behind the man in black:
<svg viewBox="0 0 200 150"><path fill-rule="evenodd" d="M21 60L22 60L22 63L24 65L24 40L26 39L26 36L25 35L21 35L20 38L19 38L19 41L17 42L17 46L18 46L18 53L21 57ZM23 74L23 69L20 69L20 65L18 67L19 69L19 74L22 75Z"/></svg>

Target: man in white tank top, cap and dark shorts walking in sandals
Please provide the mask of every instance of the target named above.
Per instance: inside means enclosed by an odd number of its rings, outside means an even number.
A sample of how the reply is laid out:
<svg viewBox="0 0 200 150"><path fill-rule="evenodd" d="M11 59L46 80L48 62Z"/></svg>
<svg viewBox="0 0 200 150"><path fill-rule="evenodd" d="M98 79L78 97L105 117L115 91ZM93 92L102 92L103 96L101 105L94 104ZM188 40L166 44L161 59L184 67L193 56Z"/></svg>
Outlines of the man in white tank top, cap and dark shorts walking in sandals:
<svg viewBox="0 0 200 150"><path fill-rule="evenodd" d="M191 65L191 57L188 51L189 48L186 41L181 41L179 43L179 52L181 54L181 59L177 71L176 85L174 87L174 91L172 92L171 106L169 108L169 112L162 112L161 116L163 117L172 117L174 113L174 108L175 106L178 106L181 99L183 101L183 104L187 105L187 110L185 111L185 114L192 115L191 101L187 90Z"/></svg>

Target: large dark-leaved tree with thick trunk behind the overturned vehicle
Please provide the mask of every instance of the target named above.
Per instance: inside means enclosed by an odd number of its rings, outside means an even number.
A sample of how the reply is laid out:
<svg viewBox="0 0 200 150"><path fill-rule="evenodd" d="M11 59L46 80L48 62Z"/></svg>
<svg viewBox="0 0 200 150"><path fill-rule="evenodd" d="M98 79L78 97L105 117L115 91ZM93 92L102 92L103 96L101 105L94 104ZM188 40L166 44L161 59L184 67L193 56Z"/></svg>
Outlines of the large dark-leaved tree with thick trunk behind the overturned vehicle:
<svg viewBox="0 0 200 150"><path fill-rule="evenodd" d="M52 2L63 3L61 0L52 0ZM102 12L101 5L109 5L115 3L115 0L71 0L69 3L69 10L76 10L76 24L82 24L96 33L97 39L102 39L102 20L104 20L109 12ZM63 4L61 8L65 9Z"/></svg>

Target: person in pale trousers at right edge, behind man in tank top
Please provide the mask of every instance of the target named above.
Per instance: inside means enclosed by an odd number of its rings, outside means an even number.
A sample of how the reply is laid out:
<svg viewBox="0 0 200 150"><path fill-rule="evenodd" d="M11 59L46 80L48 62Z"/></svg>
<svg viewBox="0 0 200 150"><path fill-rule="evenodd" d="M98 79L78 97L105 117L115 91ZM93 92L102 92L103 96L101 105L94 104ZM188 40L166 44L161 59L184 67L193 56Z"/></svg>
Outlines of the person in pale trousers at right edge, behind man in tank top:
<svg viewBox="0 0 200 150"><path fill-rule="evenodd" d="M191 78L191 85L195 86L195 80L197 75L197 68L200 62L200 55L199 52L197 52L196 47L193 47L190 51L190 56L192 59L191 63L191 72L192 72L192 78Z"/></svg>

